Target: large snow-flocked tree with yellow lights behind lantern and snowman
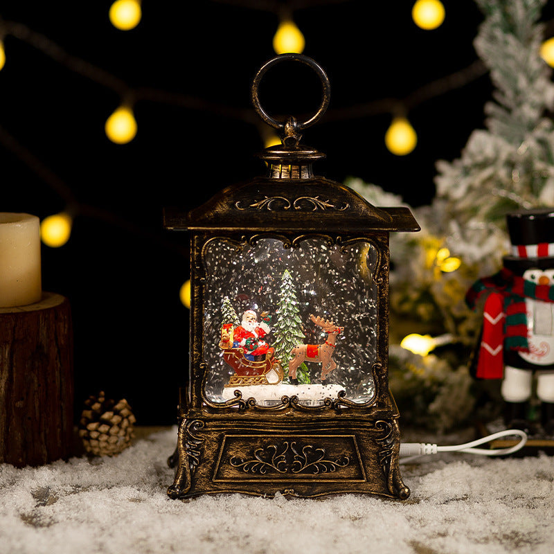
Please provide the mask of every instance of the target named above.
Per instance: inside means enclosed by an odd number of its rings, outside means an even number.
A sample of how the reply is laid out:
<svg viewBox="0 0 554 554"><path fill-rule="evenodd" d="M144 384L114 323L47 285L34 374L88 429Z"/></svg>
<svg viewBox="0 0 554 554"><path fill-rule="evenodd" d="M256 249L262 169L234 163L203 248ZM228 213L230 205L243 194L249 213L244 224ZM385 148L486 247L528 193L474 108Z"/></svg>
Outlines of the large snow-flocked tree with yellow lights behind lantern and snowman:
<svg viewBox="0 0 554 554"><path fill-rule="evenodd" d="M459 159L438 161L436 198L412 208L421 233L391 237L391 256L402 260L391 271L391 388L405 401L404 417L439 429L474 415L476 384L467 366L479 323L465 292L501 267L506 213L554 206L554 125L545 116L554 84L539 55L546 0L476 3L485 19L474 46L495 88L486 128L471 134ZM377 206L402 204L359 179L347 184ZM440 357L400 348L413 332L447 336L452 348Z"/></svg>

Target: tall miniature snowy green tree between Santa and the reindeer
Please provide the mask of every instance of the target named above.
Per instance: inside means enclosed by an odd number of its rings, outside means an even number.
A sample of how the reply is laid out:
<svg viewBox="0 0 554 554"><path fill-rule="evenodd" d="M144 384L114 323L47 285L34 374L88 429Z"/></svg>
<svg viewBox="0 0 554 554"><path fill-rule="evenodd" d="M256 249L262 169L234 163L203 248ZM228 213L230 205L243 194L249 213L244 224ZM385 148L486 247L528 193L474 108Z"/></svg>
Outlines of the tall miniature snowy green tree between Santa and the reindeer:
<svg viewBox="0 0 554 554"><path fill-rule="evenodd" d="M279 289L277 320L273 326L275 355L280 359L285 375L288 375L287 367L292 358L292 349L298 344L302 344L305 339L299 312L296 288L291 274L288 269L285 269ZM310 383L309 370L305 364L301 364L296 370L296 378L300 384Z"/></svg>

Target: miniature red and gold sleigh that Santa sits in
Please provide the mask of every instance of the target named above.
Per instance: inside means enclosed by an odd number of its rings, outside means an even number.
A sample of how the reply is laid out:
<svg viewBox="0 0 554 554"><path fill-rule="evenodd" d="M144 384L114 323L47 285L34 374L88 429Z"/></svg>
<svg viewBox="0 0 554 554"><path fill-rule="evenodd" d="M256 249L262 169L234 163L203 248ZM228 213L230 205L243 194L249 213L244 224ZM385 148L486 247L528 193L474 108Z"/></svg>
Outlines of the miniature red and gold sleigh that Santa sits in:
<svg viewBox="0 0 554 554"><path fill-rule="evenodd" d="M283 368L280 360L269 351L262 360L250 360L244 357L242 347L233 346L233 325L228 323L222 326L220 348L223 350L223 359L235 372L229 378L229 386L244 385L277 385L283 381Z"/></svg>

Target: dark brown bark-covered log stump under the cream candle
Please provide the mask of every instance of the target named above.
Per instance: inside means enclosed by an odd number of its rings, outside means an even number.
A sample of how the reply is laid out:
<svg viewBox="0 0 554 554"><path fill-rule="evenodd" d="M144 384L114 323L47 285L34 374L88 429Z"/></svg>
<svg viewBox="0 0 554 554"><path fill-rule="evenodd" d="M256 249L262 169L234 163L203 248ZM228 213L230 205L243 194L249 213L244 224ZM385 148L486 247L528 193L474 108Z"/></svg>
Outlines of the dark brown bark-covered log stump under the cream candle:
<svg viewBox="0 0 554 554"><path fill-rule="evenodd" d="M73 331L69 301L0 307L0 462L68 458L73 447Z"/></svg>

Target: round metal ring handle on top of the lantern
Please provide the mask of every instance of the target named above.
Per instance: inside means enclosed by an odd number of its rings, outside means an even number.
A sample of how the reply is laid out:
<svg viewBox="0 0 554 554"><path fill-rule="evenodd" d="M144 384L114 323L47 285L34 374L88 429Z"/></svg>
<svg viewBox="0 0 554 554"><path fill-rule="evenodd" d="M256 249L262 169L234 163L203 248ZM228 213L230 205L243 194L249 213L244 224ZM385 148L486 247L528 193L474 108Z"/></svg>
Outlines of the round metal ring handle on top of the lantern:
<svg viewBox="0 0 554 554"><path fill-rule="evenodd" d="M262 106L260 105L260 98L258 97L258 87L260 86L260 81L262 80L262 77L265 75L268 69L273 67L275 64L278 64L280 62L287 62L289 60L292 60L294 62L301 62L311 67L317 73L317 75L319 76L319 80L321 80L321 84L323 85L321 106L319 107L319 110L316 112L316 114L314 114L314 116L312 116L310 119L297 123L296 129L301 131L306 127L310 127L310 125L313 125L314 123L316 123L316 121L319 121L321 116L323 116L323 114L325 114L325 111L327 110L331 96L331 85L327 73L325 73L321 66L317 62L312 60L311 57L307 57L302 54L281 54L269 60L269 62L265 62L265 64L263 64L258 70L258 73L256 73L256 77L252 82L252 104L254 105L254 109L256 109L258 115L265 121L265 123L271 125L271 127L275 127L276 129L283 129L285 127L285 121L278 121L272 118L267 113L267 111L262 108Z"/></svg>

